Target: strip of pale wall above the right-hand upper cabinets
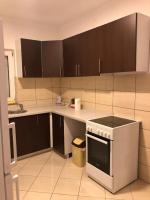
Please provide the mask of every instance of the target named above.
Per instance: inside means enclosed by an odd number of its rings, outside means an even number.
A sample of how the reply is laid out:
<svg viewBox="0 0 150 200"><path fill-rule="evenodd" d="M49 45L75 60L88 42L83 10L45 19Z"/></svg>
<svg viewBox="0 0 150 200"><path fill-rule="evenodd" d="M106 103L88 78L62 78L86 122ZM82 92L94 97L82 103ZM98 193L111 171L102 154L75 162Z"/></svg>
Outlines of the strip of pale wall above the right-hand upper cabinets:
<svg viewBox="0 0 150 200"><path fill-rule="evenodd" d="M109 0L97 10L63 24L59 36L64 39L135 12L150 16L150 0Z"/></svg>

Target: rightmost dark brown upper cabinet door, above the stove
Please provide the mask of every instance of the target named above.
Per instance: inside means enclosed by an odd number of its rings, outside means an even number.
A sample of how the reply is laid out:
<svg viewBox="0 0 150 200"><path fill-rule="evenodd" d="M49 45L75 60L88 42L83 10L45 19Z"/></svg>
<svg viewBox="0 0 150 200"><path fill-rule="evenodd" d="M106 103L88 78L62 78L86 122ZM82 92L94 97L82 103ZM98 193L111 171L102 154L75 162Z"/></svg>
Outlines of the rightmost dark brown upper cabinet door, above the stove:
<svg viewBox="0 0 150 200"><path fill-rule="evenodd" d="M99 27L101 73L136 70L136 14Z"/></svg>

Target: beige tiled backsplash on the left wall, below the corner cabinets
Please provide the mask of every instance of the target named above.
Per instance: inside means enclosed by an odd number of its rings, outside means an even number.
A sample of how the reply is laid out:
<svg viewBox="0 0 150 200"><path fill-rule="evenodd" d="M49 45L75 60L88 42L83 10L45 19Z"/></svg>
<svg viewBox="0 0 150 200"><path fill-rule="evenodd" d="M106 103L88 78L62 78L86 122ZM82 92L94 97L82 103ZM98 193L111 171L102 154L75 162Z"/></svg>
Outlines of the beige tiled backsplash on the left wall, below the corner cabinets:
<svg viewBox="0 0 150 200"><path fill-rule="evenodd" d="M26 108L51 105L60 94L59 78L16 78L16 100Z"/></svg>

